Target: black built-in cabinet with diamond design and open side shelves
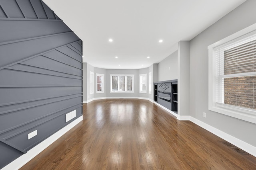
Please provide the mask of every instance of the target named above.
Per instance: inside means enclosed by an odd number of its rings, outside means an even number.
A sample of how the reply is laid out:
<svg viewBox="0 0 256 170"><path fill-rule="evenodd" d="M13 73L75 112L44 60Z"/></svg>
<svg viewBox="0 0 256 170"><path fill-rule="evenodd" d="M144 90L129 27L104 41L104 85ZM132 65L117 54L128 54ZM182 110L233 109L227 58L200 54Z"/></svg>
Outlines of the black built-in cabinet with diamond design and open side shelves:
<svg viewBox="0 0 256 170"><path fill-rule="evenodd" d="M178 80L154 82L154 101L178 113Z"/></svg>

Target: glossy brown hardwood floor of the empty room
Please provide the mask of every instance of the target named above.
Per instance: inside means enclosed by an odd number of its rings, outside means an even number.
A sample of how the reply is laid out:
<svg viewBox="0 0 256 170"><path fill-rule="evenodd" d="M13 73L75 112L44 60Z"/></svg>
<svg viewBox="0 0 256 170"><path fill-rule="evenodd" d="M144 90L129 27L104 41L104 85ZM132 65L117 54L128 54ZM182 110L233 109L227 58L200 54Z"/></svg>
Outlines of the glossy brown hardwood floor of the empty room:
<svg viewBox="0 0 256 170"><path fill-rule="evenodd" d="M256 158L147 100L95 100L21 170L254 170Z"/></svg>

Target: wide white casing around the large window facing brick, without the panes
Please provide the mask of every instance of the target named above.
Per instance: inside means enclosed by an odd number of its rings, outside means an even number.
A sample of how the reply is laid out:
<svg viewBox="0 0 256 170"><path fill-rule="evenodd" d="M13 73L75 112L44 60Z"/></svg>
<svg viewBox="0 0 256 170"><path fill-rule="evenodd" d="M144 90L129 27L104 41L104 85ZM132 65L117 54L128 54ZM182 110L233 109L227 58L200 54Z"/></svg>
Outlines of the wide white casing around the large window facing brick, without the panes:
<svg viewBox="0 0 256 170"><path fill-rule="evenodd" d="M224 115L256 123L256 111L244 107L216 103L216 49L256 33L256 23L208 46L208 109Z"/></svg>

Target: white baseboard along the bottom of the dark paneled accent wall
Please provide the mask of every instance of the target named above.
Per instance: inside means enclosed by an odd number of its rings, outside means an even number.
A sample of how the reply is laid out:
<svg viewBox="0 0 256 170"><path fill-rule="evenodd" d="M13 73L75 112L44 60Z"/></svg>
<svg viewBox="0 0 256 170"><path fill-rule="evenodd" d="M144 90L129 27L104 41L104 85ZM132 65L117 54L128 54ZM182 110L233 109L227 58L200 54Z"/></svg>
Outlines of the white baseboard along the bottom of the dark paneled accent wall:
<svg viewBox="0 0 256 170"><path fill-rule="evenodd" d="M78 117L76 120L72 121L58 132L54 133L52 136L48 137L34 148L30 149L26 154L18 157L16 160L12 161L10 164L6 165L1 170L18 170L26 163L28 163L32 158L54 143L57 139L59 139L62 135L72 129L75 125L77 125L80 121L83 120L83 116Z"/></svg>

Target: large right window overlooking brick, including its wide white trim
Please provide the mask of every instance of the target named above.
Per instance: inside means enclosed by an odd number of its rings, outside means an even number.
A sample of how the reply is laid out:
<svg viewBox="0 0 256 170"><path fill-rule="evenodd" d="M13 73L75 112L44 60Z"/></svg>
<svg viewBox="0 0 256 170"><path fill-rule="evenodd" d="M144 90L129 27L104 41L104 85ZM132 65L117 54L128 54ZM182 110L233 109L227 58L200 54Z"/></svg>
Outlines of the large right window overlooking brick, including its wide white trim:
<svg viewBox="0 0 256 170"><path fill-rule="evenodd" d="M208 46L208 109L256 124L256 23Z"/></svg>

